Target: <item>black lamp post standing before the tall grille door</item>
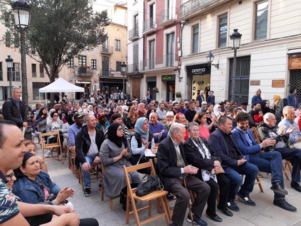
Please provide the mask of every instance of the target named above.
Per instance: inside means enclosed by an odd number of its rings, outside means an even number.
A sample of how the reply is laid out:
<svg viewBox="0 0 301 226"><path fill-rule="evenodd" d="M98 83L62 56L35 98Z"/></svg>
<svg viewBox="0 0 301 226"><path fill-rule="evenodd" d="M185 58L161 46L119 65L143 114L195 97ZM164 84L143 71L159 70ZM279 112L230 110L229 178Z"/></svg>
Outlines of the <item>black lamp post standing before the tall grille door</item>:
<svg viewBox="0 0 301 226"><path fill-rule="evenodd" d="M238 29L234 29L233 31L234 32L230 35L231 49L234 50L231 101L235 101L236 52L237 49L239 49L240 38L242 36L242 34L237 32Z"/></svg>

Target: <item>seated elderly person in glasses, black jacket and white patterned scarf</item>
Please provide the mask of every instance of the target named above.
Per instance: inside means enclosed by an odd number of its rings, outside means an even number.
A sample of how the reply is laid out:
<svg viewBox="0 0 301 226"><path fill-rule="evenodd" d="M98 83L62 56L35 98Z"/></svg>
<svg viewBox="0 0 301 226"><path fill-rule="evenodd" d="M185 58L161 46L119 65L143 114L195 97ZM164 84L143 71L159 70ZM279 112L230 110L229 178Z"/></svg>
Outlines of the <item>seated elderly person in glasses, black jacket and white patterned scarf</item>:
<svg viewBox="0 0 301 226"><path fill-rule="evenodd" d="M223 173L219 173L222 160L217 153L209 147L204 137L199 137L200 129L196 122L188 124L189 138L184 143L184 151L188 164L199 168L195 176L205 181L210 186L210 194L207 200L206 214L213 220L221 222L216 214L216 195L219 187L219 203L217 209L227 216L233 214L227 209L230 180ZM214 173L212 172L214 170ZM212 174L213 173L213 174Z"/></svg>

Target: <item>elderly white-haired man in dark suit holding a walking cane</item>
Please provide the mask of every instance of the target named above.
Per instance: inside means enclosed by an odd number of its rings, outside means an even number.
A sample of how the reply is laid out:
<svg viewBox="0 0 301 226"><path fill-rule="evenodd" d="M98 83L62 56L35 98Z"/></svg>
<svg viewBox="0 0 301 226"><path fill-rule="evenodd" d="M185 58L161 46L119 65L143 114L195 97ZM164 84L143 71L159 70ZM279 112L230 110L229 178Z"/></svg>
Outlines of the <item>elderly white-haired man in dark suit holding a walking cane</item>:
<svg viewBox="0 0 301 226"><path fill-rule="evenodd" d="M191 174L196 174L198 168L186 163L183 143L185 138L185 125L174 123L169 128L170 137L160 143L158 148L159 177L164 185L164 190L171 192L177 198L169 226L182 226L189 203L190 194L184 185L197 194L191 207L193 219L188 214L187 221L199 226L207 223L201 219L203 209L209 196L210 187Z"/></svg>

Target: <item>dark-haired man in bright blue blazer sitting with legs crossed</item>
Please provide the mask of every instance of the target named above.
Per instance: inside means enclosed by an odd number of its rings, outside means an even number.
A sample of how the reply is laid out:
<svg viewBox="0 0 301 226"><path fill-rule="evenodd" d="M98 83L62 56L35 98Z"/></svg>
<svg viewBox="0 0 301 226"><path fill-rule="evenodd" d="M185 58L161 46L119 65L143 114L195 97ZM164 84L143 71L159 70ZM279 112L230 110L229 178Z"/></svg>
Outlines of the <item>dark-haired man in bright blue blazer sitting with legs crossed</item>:
<svg viewBox="0 0 301 226"><path fill-rule="evenodd" d="M237 127L232 130L233 137L237 140L238 147L246 156L248 162L256 165L259 171L272 174L272 187L274 191L274 205L288 211L296 211L296 208L285 200L287 191L284 190L282 156L280 152L261 152L261 149L274 146L274 138L268 138L258 144L254 139L252 130L248 129L249 115L241 112L236 117ZM240 197L239 197L240 198Z"/></svg>

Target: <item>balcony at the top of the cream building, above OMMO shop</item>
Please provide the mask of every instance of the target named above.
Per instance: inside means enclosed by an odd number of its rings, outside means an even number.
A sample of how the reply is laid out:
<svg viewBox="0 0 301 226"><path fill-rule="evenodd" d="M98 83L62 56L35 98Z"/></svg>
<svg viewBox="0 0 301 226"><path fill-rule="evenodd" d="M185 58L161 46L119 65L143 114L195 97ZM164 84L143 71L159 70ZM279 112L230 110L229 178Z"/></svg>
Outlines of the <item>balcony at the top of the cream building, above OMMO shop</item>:
<svg viewBox="0 0 301 226"><path fill-rule="evenodd" d="M223 1L220 0L189 0L181 5L180 8L180 17L190 17L190 14L193 14L197 11L200 11L204 8L213 8L217 4ZM228 2L224 1L223 3Z"/></svg>

